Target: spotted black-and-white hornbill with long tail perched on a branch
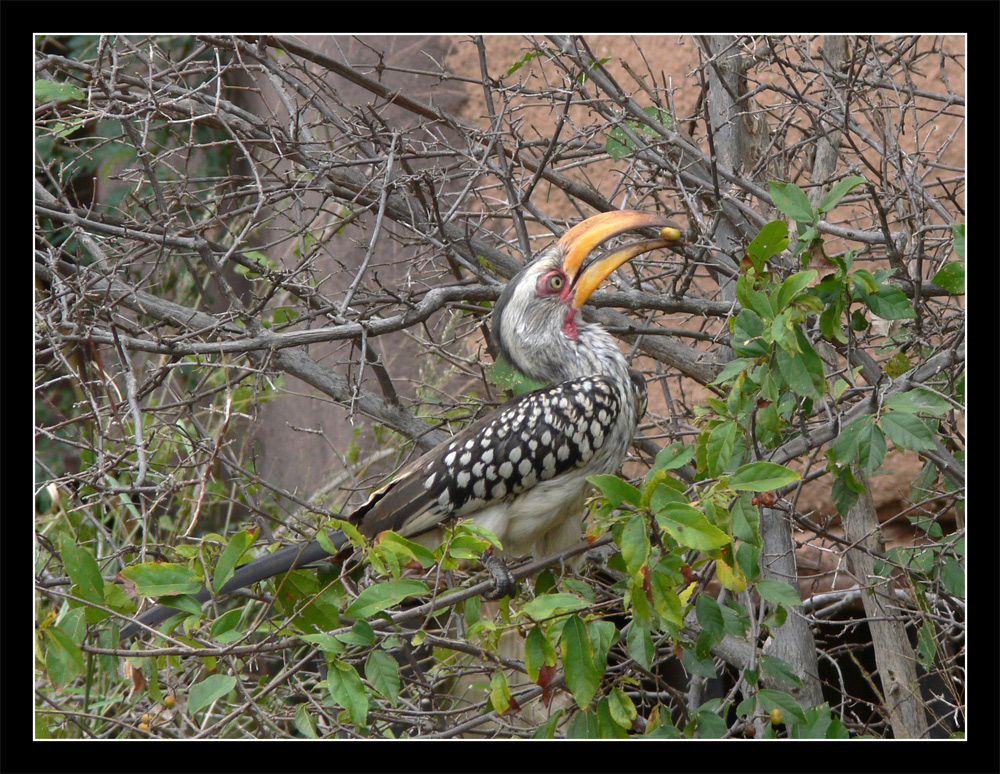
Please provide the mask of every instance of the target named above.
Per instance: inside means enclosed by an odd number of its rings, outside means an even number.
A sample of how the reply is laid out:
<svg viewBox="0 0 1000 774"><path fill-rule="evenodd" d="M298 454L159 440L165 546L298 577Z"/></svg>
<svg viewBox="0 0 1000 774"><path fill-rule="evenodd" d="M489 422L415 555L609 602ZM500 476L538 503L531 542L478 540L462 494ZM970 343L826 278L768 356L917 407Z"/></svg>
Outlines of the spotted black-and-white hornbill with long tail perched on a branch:
<svg viewBox="0 0 1000 774"><path fill-rule="evenodd" d="M595 257L604 242L639 229L658 238ZM589 476L617 472L646 411L646 383L614 338L587 321L581 307L614 271L638 255L676 244L665 216L612 210L576 224L540 250L500 293L490 340L497 358L546 386L515 397L410 462L348 516L367 539L385 530L430 548L449 521L468 518L497 536L504 555L547 556L579 543ZM340 552L344 533L329 538ZM292 545L238 568L228 594L329 558L318 540ZM493 578L486 599L513 596L503 560L486 552ZM194 595L207 602L212 594ZM131 619L124 641L176 614L157 605Z"/></svg>

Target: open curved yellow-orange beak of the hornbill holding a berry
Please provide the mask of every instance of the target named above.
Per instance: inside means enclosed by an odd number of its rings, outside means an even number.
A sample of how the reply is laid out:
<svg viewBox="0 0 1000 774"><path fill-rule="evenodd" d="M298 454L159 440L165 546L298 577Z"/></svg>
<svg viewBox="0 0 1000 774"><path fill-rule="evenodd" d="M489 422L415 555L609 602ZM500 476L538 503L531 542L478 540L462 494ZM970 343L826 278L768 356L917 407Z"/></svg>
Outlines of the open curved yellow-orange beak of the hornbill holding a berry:
<svg viewBox="0 0 1000 774"><path fill-rule="evenodd" d="M648 226L659 228L661 238L616 250L592 263L577 278L577 272L580 271L583 262L599 244L626 231ZM576 280L573 306L577 309L583 306L598 286L622 264L637 255L666 247L680 238L680 230L664 216L637 210L602 212L573 226L559 240L559 246L563 250L563 271L571 282Z"/></svg>

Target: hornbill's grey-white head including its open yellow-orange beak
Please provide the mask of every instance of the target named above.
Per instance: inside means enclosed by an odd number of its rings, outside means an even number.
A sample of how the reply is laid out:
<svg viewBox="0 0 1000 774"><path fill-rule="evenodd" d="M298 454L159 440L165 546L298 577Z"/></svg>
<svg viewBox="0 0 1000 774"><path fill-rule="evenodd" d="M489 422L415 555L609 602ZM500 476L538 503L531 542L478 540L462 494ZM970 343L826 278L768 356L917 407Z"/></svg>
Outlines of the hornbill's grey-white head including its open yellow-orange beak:
<svg viewBox="0 0 1000 774"><path fill-rule="evenodd" d="M660 238L595 259L602 243L640 228L656 228ZM601 373L595 356L604 354L610 336L590 330L594 326L577 312L619 266L680 236L663 215L636 210L603 212L578 223L540 251L500 294L491 326L494 351L521 373L549 384Z"/></svg>

